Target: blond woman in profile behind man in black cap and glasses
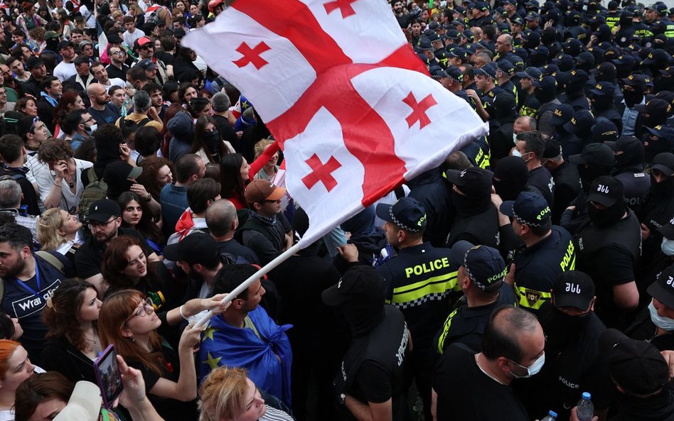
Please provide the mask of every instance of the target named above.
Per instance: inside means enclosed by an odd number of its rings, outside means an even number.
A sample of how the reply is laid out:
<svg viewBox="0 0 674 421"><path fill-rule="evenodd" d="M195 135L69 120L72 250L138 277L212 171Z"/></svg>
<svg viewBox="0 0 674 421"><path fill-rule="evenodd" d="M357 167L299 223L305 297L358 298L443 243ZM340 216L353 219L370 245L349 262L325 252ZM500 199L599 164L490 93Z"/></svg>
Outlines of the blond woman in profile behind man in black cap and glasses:
<svg viewBox="0 0 674 421"><path fill-rule="evenodd" d="M75 264L75 252L84 239L80 236L82 222L77 217L77 209L70 212L57 207L47 209L38 219L38 241L42 250L55 250ZM72 213L71 213L72 212Z"/></svg>

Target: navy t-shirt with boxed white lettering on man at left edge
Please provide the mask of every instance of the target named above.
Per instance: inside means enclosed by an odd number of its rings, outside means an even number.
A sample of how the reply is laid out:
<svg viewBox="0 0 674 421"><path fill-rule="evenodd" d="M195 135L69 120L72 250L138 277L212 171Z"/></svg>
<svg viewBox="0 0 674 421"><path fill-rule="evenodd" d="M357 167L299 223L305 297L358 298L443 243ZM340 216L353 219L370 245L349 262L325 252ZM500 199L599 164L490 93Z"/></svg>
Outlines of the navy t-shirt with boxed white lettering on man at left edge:
<svg viewBox="0 0 674 421"><path fill-rule="evenodd" d="M39 365L47 334L47 327L42 321L42 310L47 298L61 285L65 275L42 258L34 258L37 263L36 276L25 282L16 278L4 280L2 310L21 323L23 336L19 341L28 351L31 361Z"/></svg>

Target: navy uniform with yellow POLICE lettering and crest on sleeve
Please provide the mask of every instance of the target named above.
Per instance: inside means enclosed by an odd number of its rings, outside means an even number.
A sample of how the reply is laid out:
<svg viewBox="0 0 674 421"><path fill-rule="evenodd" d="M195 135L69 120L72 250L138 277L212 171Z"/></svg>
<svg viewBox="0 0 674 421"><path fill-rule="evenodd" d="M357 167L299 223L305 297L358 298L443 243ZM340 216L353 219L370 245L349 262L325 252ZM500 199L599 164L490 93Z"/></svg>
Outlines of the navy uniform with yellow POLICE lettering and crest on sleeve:
<svg viewBox="0 0 674 421"><path fill-rule="evenodd" d="M574 270L576 253L573 238L561 226L552 226L549 236L533 246L515 251L515 295L518 305L536 312L550 299L550 289L559 273Z"/></svg>

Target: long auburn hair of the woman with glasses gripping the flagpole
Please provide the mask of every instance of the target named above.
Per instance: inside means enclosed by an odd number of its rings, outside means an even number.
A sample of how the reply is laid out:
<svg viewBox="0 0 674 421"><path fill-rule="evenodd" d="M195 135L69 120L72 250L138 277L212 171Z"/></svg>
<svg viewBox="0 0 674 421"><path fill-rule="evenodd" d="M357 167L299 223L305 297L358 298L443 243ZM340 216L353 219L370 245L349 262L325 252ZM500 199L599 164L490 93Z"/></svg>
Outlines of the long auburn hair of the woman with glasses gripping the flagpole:
<svg viewBox="0 0 674 421"><path fill-rule="evenodd" d="M150 371L161 376L159 364L164 361L161 352L145 351L132 339L122 335L127 320L134 315L136 307L144 300L145 295L137 290L119 290L108 295L98 316L98 335L104 348L114 344L115 351L124 359L140 361ZM154 331L150 332L149 342L151 349L161 348L161 337Z"/></svg>

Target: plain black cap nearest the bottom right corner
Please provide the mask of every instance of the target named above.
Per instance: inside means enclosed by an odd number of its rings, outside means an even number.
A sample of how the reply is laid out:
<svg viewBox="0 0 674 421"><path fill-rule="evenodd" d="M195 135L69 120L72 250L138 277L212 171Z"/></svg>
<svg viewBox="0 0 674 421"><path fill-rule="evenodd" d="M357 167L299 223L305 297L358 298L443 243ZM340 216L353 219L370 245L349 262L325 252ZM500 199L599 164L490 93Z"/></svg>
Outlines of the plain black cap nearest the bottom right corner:
<svg viewBox="0 0 674 421"><path fill-rule="evenodd" d="M609 363L613 381L630 393L651 395L668 381L667 361L648 341L630 339L617 329L606 329L599 337L599 351Z"/></svg>

